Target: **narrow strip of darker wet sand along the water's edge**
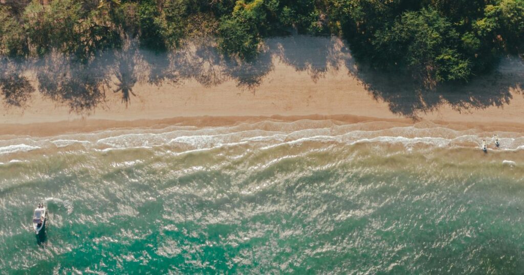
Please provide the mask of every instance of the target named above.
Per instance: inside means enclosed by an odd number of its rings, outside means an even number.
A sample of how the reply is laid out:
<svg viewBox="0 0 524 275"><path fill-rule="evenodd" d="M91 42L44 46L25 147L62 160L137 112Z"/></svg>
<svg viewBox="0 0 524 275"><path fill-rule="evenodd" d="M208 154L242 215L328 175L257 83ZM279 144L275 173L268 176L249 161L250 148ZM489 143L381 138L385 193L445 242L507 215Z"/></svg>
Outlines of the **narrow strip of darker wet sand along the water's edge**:
<svg viewBox="0 0 524 275"><path fill-rule="evenodd" d="M29 124L0 124L0 140L10 139L12 136L51 137L65 134L95 133L111 129L163 129L169 126L232 127L239 124L255 124L260 122L292 123L297 121L329 120L336 125L362 124L366 130L387 129L394 127L413 126L419 128L444 127L453 130L474 129L482 132L503 131L524 133L524 123L497 122L487 123L468 121L446 121L423 119L413 122L408 118L374 118L354 115L308 115L308 116L193 116L172 117L163 119L135 119L135 120L108 120L108 119L74 119L59 122L29 123ZM370 124L373 124L370 126Z"/></svg>

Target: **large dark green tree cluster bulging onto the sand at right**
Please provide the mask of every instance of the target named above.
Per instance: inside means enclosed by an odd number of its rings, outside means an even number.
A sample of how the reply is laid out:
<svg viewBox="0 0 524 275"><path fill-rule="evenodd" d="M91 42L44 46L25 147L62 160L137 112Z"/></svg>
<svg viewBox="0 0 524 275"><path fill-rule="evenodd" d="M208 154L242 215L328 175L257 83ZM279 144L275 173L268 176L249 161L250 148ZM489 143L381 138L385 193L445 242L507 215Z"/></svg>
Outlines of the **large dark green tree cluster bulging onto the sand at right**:
<svg viewBox="0 0 524 275"><path fill-rule="evenodd" d="M524 1L333 0L357 59L428 86L467 81L504 53L522 54Z"/></svg>

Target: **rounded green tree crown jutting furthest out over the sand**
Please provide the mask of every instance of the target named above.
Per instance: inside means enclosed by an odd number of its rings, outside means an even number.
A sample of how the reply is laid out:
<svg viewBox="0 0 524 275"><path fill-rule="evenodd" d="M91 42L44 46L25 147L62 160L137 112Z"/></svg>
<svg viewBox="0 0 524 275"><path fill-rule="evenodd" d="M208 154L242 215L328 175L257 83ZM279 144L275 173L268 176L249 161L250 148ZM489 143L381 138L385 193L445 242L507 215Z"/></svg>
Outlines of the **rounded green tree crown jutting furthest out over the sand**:
<svg viewBox="0 0 524 275"><path fill-rule="evenodd" d="M471 74L470 60L459 53L458 32L432 9L403 13L376 32L372 45L372 62L405 68L429 86L466 80Z"/></svg>

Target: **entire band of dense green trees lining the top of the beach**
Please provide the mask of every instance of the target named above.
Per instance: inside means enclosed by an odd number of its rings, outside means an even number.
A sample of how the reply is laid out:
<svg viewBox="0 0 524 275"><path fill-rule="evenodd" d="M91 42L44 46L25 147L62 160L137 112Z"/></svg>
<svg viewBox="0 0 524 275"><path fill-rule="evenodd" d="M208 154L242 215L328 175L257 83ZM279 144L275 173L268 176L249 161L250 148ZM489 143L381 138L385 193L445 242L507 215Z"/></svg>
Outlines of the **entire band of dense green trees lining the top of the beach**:
<svg viewBox="0 0 524 275"><path fill-rule="evenodd" d="M264 38L336 35L361 63L426 86L467 81L524 50L524 0L2 0L0 55L62 52L87 62L136 38L176 50L216 38L223 54L255 58Z"/></svg>

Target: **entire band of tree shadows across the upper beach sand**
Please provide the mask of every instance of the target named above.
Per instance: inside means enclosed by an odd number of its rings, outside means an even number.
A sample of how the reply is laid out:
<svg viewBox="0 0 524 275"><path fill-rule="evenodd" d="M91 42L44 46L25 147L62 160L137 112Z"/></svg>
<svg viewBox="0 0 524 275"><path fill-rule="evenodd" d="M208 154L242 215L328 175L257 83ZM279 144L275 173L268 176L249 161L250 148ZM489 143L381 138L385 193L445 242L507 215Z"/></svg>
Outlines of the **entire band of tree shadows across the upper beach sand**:
<svg viewBox="0 0 524 275"><path fill-rule="evenodd" d="M312 82L329 71L347 71L375 100L386 102L392 113L417 119L449 104L457 112L509 104L523 89L524 65L518 59L501 61L497 71L470 83L424 89L399 74L377 72L358 64L346 43L335 37L290 36L268 39L259 56L241 61L225 57L212 40L187 43L172 52L151 52L129 40L121 49L99 53L80 63L60 53L38 60L0 60L0 95L6 107L24 108L39 91L72 112L91 112L105 103L106 91L122 94L130 104L137 83L181 85L194 80L205 87L234 81L251 92L282 62L307 72ZM37 86L28 75L36 75ZM104 105L102 105L104 106ZM106 106L104 106L106 107Z"/></svg>

